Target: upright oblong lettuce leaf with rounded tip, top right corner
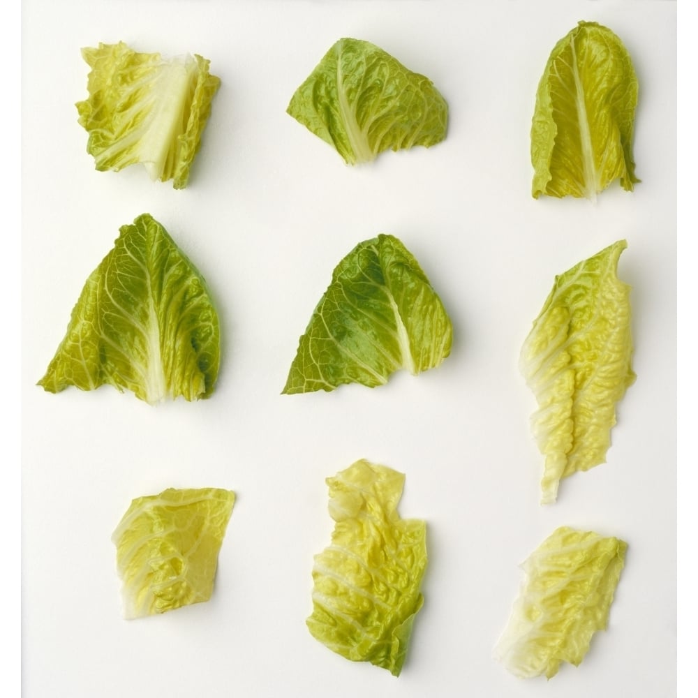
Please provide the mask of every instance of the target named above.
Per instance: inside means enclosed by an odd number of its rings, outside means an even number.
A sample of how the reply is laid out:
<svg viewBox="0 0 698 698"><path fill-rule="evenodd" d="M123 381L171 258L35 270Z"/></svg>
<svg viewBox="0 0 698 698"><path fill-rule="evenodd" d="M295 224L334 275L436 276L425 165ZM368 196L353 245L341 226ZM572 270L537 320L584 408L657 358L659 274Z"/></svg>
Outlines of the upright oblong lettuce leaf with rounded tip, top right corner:
<svg viewBox="0 0 698 698"><path fill-rule="evenodd" d="M538 85L530 133L533 196L594 200L615 179L632 191L637 77L623 43L596 22L558 41Z"/></svg>

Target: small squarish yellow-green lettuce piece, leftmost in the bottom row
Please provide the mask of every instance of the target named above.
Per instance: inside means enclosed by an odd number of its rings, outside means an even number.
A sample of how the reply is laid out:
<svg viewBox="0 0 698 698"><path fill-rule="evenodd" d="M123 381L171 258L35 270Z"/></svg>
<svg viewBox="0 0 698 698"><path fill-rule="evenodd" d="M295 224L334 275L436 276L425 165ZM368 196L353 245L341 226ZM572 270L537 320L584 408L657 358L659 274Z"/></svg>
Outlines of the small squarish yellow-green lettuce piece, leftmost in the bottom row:
<svg viewBox="0 0 698 698"><path fill-rule="evenodd" d="M208 601L235 492L166 489L139 497L114 530L126 618Z"/></svg>

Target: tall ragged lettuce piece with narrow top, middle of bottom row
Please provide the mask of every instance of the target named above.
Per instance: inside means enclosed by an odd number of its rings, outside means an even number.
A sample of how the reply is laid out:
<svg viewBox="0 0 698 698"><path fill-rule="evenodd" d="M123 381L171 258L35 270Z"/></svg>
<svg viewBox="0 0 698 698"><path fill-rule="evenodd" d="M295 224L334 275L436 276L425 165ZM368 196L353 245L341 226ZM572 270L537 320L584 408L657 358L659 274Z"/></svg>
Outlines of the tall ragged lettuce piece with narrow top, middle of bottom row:
<svg viewBox="0 0 698 698"><path fill-rule="evenodd" d="M355 662L399 676L426 569L426 523L401 519L405 476L360 460L327 478L332 543L315 556L315 639Z"/></svg>

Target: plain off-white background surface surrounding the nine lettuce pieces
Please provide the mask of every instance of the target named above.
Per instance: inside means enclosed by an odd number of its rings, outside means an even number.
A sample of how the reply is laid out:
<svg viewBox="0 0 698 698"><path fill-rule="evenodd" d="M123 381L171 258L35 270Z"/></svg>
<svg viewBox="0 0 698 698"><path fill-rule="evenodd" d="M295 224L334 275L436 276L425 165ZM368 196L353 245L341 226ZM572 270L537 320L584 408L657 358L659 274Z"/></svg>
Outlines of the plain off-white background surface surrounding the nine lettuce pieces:
<svg viewBox="0 0 698 698"><path fill-rule="evenodd" d="M122 1L22 8L22 647L29 697L482 698L676 692L676 3ZM633 193L530 197L535 90L578 20L621 36L640 82ZM341 36L428 75L447 140L349 168L285 114ZM96 172L74 103L80 47L197 52L221 77L190 185ZM36 381L119 226L144 212L206 276L223 330L214 396L151 408L110 387ZM452 355L378 389L282 396L298 337L350 249L378 232L414 253L454 323ZM555 274L616 239L633 287L637 383L608 463L538 504L542 458L519 348ZM425 604L399 678L306 630L325 477L365 457L406 473L428 522ZM124 621L112 530L131 499L225 487L238 499L214 597ZM521 681L491 659L521 577L556 526L630 547L609 629L577 669Z"/></svg>

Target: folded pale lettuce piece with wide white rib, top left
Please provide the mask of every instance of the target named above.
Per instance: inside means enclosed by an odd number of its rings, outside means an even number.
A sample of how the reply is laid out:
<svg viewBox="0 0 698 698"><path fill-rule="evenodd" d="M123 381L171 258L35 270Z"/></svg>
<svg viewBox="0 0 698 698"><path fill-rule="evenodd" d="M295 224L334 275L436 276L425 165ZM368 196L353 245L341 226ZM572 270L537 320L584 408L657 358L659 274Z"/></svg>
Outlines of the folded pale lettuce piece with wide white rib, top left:
<svg viewBox="0 0 698 698"><path fill-rule="evenodd" d="M151 179L182 189L221 80L199 55L163 59L125 43L84 48L89 97L75 106L97 170L143 163Z"/></svg>

